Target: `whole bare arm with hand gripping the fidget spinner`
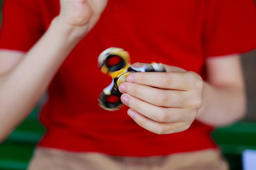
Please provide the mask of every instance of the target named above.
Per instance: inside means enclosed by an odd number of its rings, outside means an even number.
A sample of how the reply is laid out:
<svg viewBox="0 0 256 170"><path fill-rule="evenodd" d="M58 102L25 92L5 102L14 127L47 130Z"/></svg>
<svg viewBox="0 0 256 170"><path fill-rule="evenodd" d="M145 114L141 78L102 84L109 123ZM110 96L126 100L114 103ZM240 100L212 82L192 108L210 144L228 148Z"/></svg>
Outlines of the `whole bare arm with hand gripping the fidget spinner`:
<svg viewBox="0 0 256 170"><path fill-rule="evenodd" d="M198 119L227 125L245 114L245 90L238 55L207 60L209 81L166 66L167 72L134 73L119 86L128 114L157 134L181 132Z"/></svg>

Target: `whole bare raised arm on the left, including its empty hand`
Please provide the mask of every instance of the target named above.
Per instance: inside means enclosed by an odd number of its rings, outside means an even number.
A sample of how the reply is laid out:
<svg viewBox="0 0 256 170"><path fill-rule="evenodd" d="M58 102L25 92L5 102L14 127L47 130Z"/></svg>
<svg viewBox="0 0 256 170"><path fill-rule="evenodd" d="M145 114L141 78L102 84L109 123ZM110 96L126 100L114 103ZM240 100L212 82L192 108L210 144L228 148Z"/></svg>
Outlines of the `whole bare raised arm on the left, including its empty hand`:
<svg viewBox="0 0 256 170"><path fill-rule="evenodd" d="M60 3L60 15L31 50L0 52L0 142L30 113L60 64L100 18L107 1Z"/></svg>

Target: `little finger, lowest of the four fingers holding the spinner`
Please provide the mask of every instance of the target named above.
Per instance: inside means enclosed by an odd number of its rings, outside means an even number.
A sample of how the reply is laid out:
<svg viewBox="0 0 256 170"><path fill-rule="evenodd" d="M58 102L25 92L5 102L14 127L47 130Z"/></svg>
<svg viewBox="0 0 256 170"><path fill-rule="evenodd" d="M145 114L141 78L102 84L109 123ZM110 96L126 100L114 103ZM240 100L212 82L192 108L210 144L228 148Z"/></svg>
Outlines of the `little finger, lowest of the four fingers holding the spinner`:
<svg viewBox="0 0 256 170"><path fill-rule="evenodd" d="M146 118L144 115L137 113L136 111L129 109L127 111L128 115L142 128L154 132L156 134L170 134L174 132L181 132L189 128L186 123L159 123L154 120Z"/></svg>

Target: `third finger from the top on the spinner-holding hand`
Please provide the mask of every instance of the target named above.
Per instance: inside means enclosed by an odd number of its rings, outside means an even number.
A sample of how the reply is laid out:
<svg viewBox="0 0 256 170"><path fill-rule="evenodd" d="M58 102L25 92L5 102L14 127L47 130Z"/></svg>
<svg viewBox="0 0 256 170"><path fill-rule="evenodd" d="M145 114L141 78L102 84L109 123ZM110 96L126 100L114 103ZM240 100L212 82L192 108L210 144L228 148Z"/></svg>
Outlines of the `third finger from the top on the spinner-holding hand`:
<svg viewBox="0 0 256 170"><path fill-rule="evenodd" d="M186 109L182 108L163 108L159 106L151 105L145 101L141 101L138 98L129 96L129 94L123 94L121 96L122 102L132 108L132 110L141 113L146 118L154 120L159 123L170 123L189 120L189 115Z"/></svg>

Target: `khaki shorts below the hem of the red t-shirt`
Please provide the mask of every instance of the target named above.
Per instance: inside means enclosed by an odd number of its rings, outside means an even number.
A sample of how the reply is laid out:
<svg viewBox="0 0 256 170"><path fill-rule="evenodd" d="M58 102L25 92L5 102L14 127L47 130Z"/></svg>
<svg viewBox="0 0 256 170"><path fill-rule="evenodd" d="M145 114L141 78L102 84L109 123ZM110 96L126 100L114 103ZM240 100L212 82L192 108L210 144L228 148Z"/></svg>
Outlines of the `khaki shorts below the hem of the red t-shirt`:
<svg viewBox="0 0 256 170"><path fill-rule="evenodd" d="M154 157L114 157L95 152L67 152L38 148L29 170L228 170L215 149Z"/></svg>

